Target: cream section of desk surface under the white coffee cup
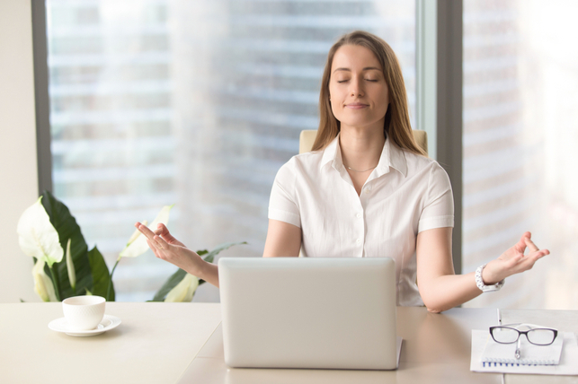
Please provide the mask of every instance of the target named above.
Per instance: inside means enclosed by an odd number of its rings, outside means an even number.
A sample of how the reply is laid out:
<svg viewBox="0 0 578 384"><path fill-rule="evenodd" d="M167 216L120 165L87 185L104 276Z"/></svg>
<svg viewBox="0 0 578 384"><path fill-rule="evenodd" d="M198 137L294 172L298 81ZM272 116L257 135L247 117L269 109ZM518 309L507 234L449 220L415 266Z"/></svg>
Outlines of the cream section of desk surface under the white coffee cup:
<svg viewBox="0 0 578 384"><path fill-rule="evenodd" d="M0 304L1 383L175 383L218 326L219 304L107 302L122 323L92 337L49 329L60 303Z"/></svg>

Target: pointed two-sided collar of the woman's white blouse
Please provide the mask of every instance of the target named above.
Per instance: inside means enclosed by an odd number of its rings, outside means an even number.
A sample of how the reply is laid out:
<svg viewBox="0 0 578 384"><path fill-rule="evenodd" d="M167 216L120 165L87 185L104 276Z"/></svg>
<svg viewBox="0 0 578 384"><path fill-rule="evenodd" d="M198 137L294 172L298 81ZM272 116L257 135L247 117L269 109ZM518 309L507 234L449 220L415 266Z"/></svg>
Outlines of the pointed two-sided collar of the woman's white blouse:
<svg viewBox="0 0 578 384"><path fill-rule="evenodd" d="M321 168L327 163L332 163L335 170L344 170L342 161L342 151L339 145L339 134L335 136L333 141L325 147L323 157L321 159ZM386 138L386 144L383 146L381 156L379 157L378 166L375 169L376 177L380 177L389 172L389 167L398 170L402 175L407 176L407 161L405 160L404 151L391 140Z"/></svg>

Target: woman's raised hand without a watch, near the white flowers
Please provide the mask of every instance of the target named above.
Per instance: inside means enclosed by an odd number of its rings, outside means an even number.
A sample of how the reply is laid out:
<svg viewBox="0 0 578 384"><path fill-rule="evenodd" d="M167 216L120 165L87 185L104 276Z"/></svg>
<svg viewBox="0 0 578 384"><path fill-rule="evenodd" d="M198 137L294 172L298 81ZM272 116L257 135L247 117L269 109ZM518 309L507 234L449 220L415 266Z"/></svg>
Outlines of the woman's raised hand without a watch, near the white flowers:
<svg viewBox="0 0 578 384"><path fill-rule="evenodd" d="M184 269L191 275L201 277L203 266L207 263L196 252L176 240L165 224L159 223L156 231L151 231L142 223L136 223L135 227L147 237L148 246L155 252L156 257Z"/></svg>

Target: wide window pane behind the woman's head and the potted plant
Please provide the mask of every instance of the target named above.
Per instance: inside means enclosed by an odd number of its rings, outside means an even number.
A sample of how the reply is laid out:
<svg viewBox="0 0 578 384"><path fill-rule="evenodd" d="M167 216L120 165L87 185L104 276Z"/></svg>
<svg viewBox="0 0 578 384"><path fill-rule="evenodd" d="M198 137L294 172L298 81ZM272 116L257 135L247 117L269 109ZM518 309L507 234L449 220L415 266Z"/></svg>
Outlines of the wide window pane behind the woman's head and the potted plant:
<svg viewBox="0 0 578 384"><path fill-rule="evenodd" d="M55 194L109 266L162 205L191 249L249 244L260 257L272 180L317 128L328 49L345 32L386 39L415 100L415 5L376 1L49 0ZM173 272L122 259L119 301L145 301ZM217 301L201 286L197 301Z"/></svg>

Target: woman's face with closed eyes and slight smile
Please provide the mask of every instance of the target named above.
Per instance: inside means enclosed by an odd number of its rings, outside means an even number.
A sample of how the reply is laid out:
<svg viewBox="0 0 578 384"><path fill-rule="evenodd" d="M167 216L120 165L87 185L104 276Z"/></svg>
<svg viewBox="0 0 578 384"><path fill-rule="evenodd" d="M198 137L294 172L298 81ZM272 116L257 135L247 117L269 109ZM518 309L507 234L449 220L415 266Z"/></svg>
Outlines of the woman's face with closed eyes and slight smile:
<svg viewBox="0 0 578 384"><path fill-rule="evenodd" d="M345 45L331 65L329 95L341 127L383 130L389 92L383 68L368 48Z"/></svg>

